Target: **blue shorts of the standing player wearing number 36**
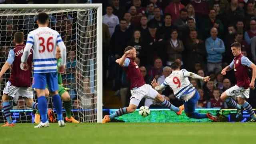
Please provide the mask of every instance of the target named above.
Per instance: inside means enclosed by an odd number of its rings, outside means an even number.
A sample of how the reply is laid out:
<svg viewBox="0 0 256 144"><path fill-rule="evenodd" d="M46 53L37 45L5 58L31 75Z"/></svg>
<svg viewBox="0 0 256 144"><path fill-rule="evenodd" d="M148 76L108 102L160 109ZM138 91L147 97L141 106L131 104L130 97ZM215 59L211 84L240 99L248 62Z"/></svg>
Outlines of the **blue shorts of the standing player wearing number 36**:
<svg viewBox="0 0 256 144"><path fill-rule="evenodd" d="M33 88L44 90L48 85L49 92L58 90L58 74L57 72L34 73Z"/></svg>

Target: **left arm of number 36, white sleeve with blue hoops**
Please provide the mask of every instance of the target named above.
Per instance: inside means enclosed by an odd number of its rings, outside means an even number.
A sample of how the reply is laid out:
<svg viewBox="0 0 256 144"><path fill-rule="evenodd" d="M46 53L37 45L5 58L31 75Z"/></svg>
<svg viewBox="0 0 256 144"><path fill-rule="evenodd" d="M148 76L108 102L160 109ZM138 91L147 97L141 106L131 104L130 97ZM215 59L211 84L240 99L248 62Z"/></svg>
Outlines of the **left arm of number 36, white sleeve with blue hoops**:
<svg viewBox="0 0 256 144"><path fill-rule="evenodd" d="M26 46L24 48L22 57L21 57L21 62L26 63L28 60L28 56L30 54L30 49L32 48L32 46L34 45L34 38L33 36L29 33L28 34L28 39L26 42Z"/></svg>

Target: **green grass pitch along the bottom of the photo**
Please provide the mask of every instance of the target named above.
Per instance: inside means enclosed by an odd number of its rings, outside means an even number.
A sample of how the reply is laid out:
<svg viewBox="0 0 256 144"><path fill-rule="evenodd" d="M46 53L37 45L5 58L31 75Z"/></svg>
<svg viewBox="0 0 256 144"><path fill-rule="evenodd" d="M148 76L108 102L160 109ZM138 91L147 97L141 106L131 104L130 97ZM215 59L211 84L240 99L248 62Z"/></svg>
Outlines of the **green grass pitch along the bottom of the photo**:
<svg viewBox="0 0 256 144"><path fill-rule="evenodd" d="M243 144L255 123L67 123L64 128L16 124L0 128L0 144Z"/></svg>

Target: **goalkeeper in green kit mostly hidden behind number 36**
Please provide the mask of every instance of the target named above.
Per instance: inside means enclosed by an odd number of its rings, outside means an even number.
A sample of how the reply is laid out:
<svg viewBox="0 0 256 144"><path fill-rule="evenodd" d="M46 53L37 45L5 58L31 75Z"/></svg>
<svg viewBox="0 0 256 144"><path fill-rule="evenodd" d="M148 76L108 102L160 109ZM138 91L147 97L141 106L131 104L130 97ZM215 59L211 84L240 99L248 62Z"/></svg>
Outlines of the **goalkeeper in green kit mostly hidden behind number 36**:
<svg viewBox="0 0 256 144"><path fill-rule="evenodd" d="M61 64L61 58L60 58L60 48L57 46L57 52L56 52L56 58L57 58L57 72L58 72L58 68ZM63 100L63 106L66 110L66 118L65 120L67 122L73 122L73 123L79 123L77 120L75 120L72 116L71 116L71 109L72 109L72 102L70 99L70 96L67 92L67 90L70 90L68 88L64 88L62 86L62 78L61 78L61 74L58 73L58 92L60 94L61 99ZM46 90L45 90L45 97L47 98L50 95L49 90L48 90L48 86L46 86ZM48 110L48 117L50 119L51 122L55 122L56 121L56 117L54 116L54 112L53 110ZM36 124L40 123L40 114L39 111L36 111L36 115L35 115L35 119L34 119Z"/></svg>

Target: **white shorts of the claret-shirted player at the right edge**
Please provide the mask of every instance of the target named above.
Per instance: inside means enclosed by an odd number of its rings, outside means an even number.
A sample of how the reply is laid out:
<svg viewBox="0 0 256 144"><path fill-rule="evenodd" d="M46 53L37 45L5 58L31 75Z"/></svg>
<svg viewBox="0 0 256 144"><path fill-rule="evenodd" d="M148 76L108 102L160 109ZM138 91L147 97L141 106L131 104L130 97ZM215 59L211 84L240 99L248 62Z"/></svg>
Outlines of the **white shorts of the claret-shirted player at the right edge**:
<svg viewBox="0 0 256 144"><path fill-rule="evenodd" d="M243 89L235 85L226 90L226 94L232 97L249 98L250 88Z"/></svg>

